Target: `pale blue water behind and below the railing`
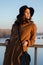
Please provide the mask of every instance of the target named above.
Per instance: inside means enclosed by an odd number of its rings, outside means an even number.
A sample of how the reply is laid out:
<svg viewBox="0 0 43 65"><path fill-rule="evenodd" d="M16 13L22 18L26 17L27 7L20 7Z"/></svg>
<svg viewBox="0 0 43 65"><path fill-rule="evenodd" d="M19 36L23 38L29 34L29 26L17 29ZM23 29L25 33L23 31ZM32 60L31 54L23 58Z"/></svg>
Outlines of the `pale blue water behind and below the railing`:
<svg viewBox="0 0 43 65"><path fill-rule="evenodd" d="M0 43L4 43L6 39L7 38L0 38ZM35 44L43 44L43 39L36 39ZM0 46L0 65L3 65L5 49L6 47ZM37 52L37 65L43 65L43 48L38 48ZM34 65L34 48L29 48L28 53L31 56L30 65Z"/></svg>

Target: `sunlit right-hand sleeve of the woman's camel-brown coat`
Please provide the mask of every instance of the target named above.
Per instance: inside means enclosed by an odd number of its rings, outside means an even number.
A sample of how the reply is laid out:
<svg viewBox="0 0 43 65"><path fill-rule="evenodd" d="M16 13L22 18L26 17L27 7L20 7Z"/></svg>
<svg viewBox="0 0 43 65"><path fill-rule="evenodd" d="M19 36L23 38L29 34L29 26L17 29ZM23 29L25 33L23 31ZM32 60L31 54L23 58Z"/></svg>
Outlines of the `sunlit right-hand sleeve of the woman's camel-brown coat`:
<svg viewBox="0 0 43 65"><path fill-rule="evenodd" d="M36 25L34 24L34 25L32 26L31 37L30 37L28 46L33 46L33 45L34 45L34 43L35 43L35 38L36 38L36 33L37 33L37 27L36 27Z"/></svg>

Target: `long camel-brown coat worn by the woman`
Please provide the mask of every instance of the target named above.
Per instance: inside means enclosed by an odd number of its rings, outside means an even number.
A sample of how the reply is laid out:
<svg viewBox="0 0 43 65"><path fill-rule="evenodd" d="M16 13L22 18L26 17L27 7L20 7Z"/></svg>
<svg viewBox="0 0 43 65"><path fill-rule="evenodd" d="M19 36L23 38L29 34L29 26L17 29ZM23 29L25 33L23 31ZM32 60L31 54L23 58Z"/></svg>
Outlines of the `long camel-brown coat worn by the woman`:
<svg viewBox="0 0 43 65"><path fill-rule="evenodd" d="M22 44L28 41L28 47L34 45L36 38L36 25L33 22L21 24L20 33ZM23 48L26 49L26 48ZM20 65L19 56L22 54L22 47L20 46L18 38L18 26L13 24L11 30L10 43L6 47L4 64L3 65Z"/></svg>

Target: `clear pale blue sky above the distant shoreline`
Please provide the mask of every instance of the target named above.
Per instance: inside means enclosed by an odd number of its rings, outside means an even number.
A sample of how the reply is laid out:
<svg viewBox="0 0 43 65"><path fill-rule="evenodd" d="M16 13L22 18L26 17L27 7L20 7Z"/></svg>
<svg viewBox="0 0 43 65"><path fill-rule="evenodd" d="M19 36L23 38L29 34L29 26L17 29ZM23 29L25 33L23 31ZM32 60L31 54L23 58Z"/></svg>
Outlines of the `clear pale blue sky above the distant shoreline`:
<svg viewBox="0 0 43 65"><path fill-rule="evenodd" d="M37 26L37 32L43 32L43 0L0 0L0 28L11 29L23 5L34 8L32 20Z"/></svg>

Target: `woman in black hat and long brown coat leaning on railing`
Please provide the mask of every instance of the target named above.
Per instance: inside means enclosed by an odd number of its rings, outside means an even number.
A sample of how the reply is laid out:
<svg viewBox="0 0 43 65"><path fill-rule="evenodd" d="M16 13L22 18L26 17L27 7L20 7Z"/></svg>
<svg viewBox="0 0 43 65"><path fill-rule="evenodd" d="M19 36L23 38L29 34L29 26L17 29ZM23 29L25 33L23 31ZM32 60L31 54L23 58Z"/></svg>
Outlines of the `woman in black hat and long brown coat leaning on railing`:
<svg viewBox="0 0 43 65"><path fill-rule="evenodd" d="M22 52L35 43L37 28L31 18L34 9L26 5L19 9L17 20L12 26L10 43L6 47L3 65L20 65Z"/></svg>

